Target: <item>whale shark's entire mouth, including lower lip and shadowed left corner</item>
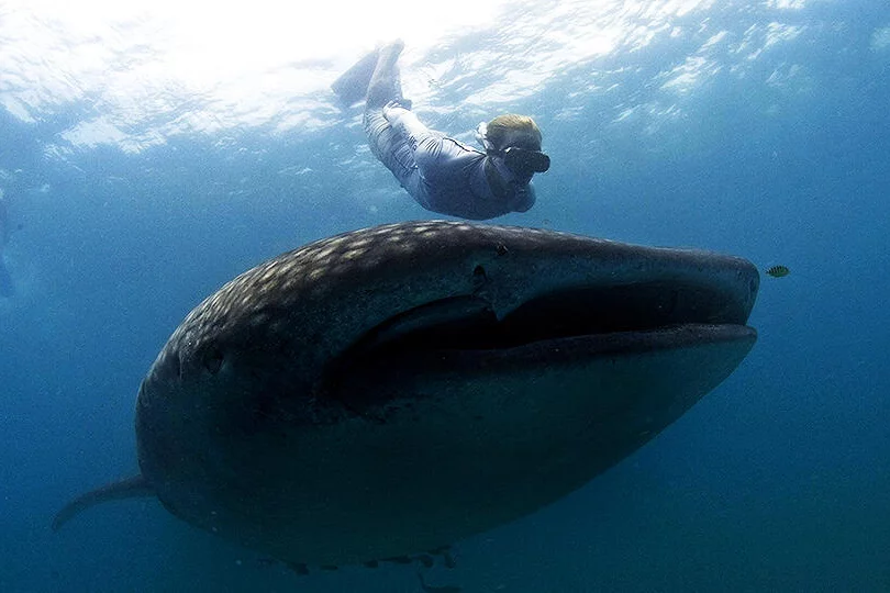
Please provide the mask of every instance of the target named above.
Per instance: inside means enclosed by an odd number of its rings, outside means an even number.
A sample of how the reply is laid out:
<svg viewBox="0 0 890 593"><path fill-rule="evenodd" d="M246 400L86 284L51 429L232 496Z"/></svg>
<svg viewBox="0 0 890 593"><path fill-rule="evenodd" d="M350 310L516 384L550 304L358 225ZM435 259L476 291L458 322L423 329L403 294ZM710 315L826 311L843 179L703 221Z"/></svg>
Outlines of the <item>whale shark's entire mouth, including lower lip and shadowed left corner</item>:
<svg viewBox="0 0 890 593"><path fill-rule="evenodd" d="M424 393L425 378L443 372L471 380L602 357L753 344L747 299L738 286L719 282L576 287L535 295L499 318L482 296L453 296L380 323L331 361L318 387L352 412L377 414L380 404Z"/></svg>

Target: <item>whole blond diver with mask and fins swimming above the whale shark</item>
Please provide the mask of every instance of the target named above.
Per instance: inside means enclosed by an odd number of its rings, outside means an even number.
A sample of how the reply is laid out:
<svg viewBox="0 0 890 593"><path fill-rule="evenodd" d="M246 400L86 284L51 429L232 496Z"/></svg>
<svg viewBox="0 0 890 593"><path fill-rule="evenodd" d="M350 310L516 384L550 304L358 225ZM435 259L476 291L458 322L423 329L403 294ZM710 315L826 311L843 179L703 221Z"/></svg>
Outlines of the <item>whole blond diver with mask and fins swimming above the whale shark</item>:
<svg viewBox="0 0 890 593"><path fill-rule="evenodd" d="M365 100L374 156L432 212L482 221L532 208L532 176L550 166L534 120L505 114L479 124L485 153L427 128L402 97L397 63L403 48L397 41L371 52L331 86L346 105Z"/></svg>

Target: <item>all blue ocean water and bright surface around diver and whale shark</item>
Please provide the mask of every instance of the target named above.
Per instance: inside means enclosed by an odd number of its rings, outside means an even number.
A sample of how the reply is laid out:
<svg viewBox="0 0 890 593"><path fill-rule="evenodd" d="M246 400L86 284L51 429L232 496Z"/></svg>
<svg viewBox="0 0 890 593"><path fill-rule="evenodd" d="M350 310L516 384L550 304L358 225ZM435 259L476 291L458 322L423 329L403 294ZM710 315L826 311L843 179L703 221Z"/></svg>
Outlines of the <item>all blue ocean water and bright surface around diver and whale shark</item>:
<svg viewBox="0 0 890 593"><path fill-rule="evenodd" d="M720 388L580 491L457 542L430 583L890 591L890 5L278 4L0 1L0 591L420 591L404 567L298 577L148 500L49 529L136 472L140 381L205 295L309 240L434 217L327 90L396 36L432 127L541 125L538 202L497 222L791 269L764 276L759 340Z"/></svg>

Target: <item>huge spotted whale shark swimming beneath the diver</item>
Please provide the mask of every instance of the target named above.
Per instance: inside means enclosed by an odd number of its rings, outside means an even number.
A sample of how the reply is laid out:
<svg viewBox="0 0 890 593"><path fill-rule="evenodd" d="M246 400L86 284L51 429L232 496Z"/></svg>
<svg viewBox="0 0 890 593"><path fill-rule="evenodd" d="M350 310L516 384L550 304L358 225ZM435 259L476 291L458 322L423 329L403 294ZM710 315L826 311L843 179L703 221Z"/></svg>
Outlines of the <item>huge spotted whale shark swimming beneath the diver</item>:
<svg viewBox="0 0 890 593"><path fill-rule="evenodd" d="M747 260L449 221L324 238L191 311L138 390L140 473L78 496L291 566L442 549L654 439L756 340ZM719 446L719 445L717 445Z"/></svg>

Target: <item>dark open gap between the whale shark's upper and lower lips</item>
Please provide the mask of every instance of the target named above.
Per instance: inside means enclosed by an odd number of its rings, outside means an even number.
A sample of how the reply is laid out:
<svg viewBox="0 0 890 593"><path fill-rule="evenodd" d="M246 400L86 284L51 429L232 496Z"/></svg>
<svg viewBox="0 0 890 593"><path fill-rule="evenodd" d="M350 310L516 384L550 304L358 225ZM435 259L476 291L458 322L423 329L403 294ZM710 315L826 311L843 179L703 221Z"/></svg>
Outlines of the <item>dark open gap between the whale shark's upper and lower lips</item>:
<svg viewBox="0 0 890 593"><path fill-rule="evenodd" d="M498 318L482 298L434 301L386 320L345 354L505 349L535 342L683 324L744 325L749 304L708 286L667 282L580 287L530 299Z"/></svg>

